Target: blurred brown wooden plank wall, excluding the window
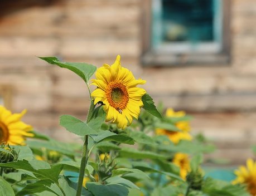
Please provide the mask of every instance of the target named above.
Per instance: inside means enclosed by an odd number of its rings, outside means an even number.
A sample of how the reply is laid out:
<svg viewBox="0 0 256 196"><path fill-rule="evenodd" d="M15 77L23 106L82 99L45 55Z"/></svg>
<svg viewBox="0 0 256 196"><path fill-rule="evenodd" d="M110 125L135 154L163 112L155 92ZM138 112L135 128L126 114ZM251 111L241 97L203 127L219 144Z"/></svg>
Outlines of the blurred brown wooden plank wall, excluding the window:
<svg viewBox="0 0 256 196"><path fill-rule="evenodd" d="M181 68L142 67L140 0L0 2L0 86L11 90L11 109L28 109L24 120L61 140L79 140L59 124L61 114L85 119L88 92L68 70L36 56L63 61L122 65L156 101L194 115L192 128L214 139L211 156L243 163L256 144L256 1L231 1L231 63Z"/></svg>

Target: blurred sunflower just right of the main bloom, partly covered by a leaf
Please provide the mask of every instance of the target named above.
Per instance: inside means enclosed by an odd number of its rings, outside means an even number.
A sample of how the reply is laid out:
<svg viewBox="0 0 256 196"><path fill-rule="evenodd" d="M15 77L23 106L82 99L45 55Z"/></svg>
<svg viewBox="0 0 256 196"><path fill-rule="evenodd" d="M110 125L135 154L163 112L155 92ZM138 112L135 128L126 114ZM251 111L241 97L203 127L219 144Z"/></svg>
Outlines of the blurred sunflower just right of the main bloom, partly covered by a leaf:
<svg viewBox="0 0 256 196"><path fill-rule="evenodd" d="M173 109L166 110L167 117L184 117L186 113L184 111L173 111ZM156 135L166 135L175 144L180 140L192 140L192 136L189 134L190 124L189 121L177 121L175 126L181 131L156 129Z"/></svg>

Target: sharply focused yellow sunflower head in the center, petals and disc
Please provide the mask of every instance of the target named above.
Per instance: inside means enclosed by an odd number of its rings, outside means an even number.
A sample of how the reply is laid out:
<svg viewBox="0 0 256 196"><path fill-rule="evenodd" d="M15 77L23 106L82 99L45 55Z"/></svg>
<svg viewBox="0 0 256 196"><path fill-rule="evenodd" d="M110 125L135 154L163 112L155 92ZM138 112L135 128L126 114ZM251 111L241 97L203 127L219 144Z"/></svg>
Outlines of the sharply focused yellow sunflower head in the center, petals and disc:
<svg viewBox="0 0 256 196"><path fill-rule="evenodd" d="M97 88L91 96L95 98L94 104L103 102L106 121L124 129L132 123L133 117L138 119L146 91L136 86L145 83L145 80L136 80L131 71L120 65L118 55L112 66L104 64L96 71L96 80L92 84Z"/></svg>

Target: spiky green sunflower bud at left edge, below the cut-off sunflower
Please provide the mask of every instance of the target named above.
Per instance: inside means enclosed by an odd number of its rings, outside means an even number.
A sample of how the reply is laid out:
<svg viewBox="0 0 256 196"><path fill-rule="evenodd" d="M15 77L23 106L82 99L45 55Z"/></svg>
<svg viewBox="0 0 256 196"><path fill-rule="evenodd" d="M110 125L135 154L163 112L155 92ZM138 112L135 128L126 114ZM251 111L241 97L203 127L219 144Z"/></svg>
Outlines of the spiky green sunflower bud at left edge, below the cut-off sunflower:
<svg viewBox="0 0 256 196"><path fill-rule="evenodd" d="M2 144L0 149L0 163L9 163L18 159L18 154L13 147Z"/></svg>

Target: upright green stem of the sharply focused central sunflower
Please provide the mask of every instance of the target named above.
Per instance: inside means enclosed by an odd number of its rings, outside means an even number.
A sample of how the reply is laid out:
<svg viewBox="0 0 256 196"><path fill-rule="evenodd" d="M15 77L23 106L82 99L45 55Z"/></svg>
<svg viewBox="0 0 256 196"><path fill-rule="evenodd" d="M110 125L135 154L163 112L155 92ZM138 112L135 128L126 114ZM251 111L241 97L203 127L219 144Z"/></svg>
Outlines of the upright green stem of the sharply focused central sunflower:
<svg viewBox="0 0 256 196"><path fill-rule="evenodd" d="M89 123L91 120L91 117L93 116L93 110L94 110L94 102L91 100L90 104L90 109L88 112L87 120L86 123ZM76 189L76 196L80 196L83 188L83 180L84 180L84 173L85 173L85 168L87 165L87 161L89 159L89 154L88 154L88 135L84 136L84 144L83 144L83 149L82 149L82 159L81 159L81 165L80 165L80 172L79 172L79 178L78 178L78 187Z"/></svg>

